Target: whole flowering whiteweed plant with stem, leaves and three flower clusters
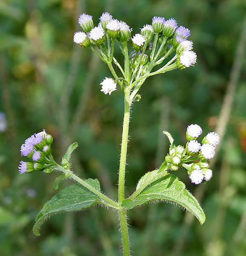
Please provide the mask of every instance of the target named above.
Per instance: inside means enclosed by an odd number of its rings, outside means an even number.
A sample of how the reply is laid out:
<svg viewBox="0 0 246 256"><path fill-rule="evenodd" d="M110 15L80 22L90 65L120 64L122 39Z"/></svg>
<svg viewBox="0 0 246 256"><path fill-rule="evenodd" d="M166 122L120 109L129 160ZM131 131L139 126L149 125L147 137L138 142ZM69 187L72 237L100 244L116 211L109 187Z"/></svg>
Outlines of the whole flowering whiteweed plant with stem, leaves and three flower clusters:
<svg viewBox="0 0 246 256"><path fill-rule="evenodd" d="M183 167L187 170L192 183L199 184L210 180L212 170L209 169L209 160L215 155L215 146L219 143L220 138L215 132L210 132L199 143L197 138L202 134L202 129L199 125L192 124L186 131L188 141L185 146L182 146L174 145L172 135L163 131L170 142L169 153L165 158L163 157L161 166L143 175L132 195L125 198L130 108L135 101L140 100L138 91L149 76L166 73L177 68L183 69L195 64L196 54L192 51L193 43L187 40L190 31L183 26L178 27L173 18L165 20L163 17L153 17L152 25L144 25L141 32L131 38L132 29L125 22L113 19L107 12L101 15L100 23L96 27L94 27L92 16L85 13L80 15L79 24L83 32L74 33L74 42L91 49L108 65L113 76L113 78L106 77L101 82L101 91L111 95L119 85L124 93L118 200L114 201L104 195L97 179L81 179L72 172L71 154L77 148L77 143L69 146L60 165L56 163L51 154L53 138L45 130L32 135L21 146L21 154L29 157L32 161L21 161L19 171L21 174L34 170L46 173L62 172L54 182L55 189L58 188L61 180L70 178L76 181L74 185L62 189L46 202L37 215L33 228L34 234L39 236L41 224L55 213L78 211L96 204L105 205L108 209L114 209L119 215L123 253L125 256L129 256L126 218L129 209L151 201L171 202L190 211L203 224L205 221L203 209L192 194L186 190L184 183L172 172ZM129 44L129 41L132 44ZM115 44L120 47L124 56L124 66L114 57ZM133 51L129 53L131 47L133 47ZM113 64L120 70L120 75L115 72ZM155 71L152 71L153 68Z"/></svg>

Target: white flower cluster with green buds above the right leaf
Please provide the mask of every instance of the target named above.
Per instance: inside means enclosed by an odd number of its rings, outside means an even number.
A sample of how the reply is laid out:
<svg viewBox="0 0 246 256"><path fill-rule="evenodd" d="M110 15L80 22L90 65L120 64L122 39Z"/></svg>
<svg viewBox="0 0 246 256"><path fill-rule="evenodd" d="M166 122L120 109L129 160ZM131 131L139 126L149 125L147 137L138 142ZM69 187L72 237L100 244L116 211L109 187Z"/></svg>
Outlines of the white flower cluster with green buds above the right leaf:
<svg viewBox="0 0 246 256"><path fill-rule="evenodd" d="M180 166L183 166L187 169L191 182L195 184L211 179L212 170L209 169L209 160L214 157L215 147L220 142L220 137L216 132L209 132L199 143L197 139L202 132L199 125L189 125L186 130L188 140L186 148L172 145L169 154L165 157L169 169L176 171Z"/></svg>

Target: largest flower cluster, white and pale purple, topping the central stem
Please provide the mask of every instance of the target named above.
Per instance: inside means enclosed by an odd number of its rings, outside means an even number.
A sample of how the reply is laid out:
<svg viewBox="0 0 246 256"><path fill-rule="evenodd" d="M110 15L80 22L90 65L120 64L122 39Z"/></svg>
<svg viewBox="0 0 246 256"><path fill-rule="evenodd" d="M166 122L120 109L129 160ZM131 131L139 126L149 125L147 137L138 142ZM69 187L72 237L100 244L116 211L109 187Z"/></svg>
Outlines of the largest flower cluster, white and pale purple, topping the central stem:
<svg viewBox="0 0 246 256"><path fill-rule="evenodd" d="M123 73L124 79L133 76L131 82L146 72L150 73L154 66L161 64L173 52L176 52L171 61L174 61L174 66L170 70L193 66L197 59L196 53L192 51L193 42L188 40L189 29L178 26L174 18L166 20L164 17L155 16L152 18L152 24L144 25L140 32L133 36L132 29L127 23L113 18L108 12L101 15L97 26L94 26L93 17L86 13L80 15L78 23L83 32L74 33L74 42L82 47L92 49L107 64L111 64L113 61L120 67L113 55L114 43L118 41L125 57L125 63L128 63L126 59L130 58L131 65L128 70L120 69L120 71ZM127 52L131 52L123 51L124 47L128 47L128 41L131 41L135 54L126 56ZM126 71L129 72L129 70L132 74L126 75ZM114 79L117 79L114 72L113 75ZM105 80L101 83L102 85L106 83ZM113 90L116 90L116 87L113 87ZM110 95L113 90L107 90L107 88L105 90L103 87L101 91L105 94L110 92Z"/></svg>

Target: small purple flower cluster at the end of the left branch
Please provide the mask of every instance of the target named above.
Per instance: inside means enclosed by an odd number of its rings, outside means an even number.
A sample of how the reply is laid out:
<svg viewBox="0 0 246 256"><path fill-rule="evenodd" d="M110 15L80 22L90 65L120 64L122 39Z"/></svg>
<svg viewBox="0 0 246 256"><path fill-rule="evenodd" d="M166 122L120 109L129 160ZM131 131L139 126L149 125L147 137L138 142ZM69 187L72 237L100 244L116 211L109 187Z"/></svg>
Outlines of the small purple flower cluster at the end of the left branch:
<svg viewBox="0 0 246 256"><path fill-rule="evenodd" d="M52 172L49 157L51 156L51 144L53 137L47 134L45 130L31 135L20 147L20 153L32 161L20 161L20 174L32 172L33 170L43 170L43 172Z"/></svg>

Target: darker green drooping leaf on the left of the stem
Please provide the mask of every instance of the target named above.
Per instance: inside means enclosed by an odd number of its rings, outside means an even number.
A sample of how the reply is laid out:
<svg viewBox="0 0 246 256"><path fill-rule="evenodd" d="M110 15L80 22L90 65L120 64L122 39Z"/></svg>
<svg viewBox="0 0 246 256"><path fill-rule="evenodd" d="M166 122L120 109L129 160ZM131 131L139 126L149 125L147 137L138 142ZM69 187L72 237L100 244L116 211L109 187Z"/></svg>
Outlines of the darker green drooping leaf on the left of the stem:
<svg viewBox="0 0 246 256"><path fill-rule="evenodd" d="M100 191L100 183L97 179L88 179L86 182ZM68 186L44 204L43 209L38 213L35 220L33 233L36 236L40 236L40 226L51 215L60 212L78 211L100 203L100 198L97 195L94 195L94 193L80 184Z"/></svg>

